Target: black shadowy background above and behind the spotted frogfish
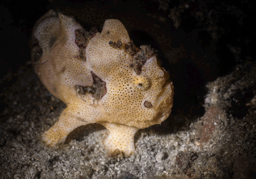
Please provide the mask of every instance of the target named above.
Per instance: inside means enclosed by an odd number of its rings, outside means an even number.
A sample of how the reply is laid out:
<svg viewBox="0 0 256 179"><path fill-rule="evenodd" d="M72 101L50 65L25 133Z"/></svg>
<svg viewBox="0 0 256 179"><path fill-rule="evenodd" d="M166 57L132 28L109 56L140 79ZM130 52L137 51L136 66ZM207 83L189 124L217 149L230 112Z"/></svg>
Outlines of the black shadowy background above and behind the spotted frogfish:
<svg viewBox="0 0 256 179"><path fill-rule="evenodd" d="M150 44L157 49L175 87L172 120L165 122L172 121L175 128L204 114L207 82L255 59L254 3L248 1L10 0L1 4L1 122L24 108L38 107L37 100L50 99L50 94L43 99L37 96L34 87L41 84L27 64L33 25L50 9L73 15L87 30L96 26L101 31L105 19L119 19L136 46Z"/></svg>

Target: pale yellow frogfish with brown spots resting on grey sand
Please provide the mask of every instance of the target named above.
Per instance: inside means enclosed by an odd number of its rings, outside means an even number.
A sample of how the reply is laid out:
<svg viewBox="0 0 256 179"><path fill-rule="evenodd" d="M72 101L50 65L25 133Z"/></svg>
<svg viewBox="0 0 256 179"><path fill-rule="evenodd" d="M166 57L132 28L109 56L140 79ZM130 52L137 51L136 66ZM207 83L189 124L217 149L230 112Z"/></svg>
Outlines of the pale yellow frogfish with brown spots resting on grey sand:
<svg viewBox="0 0 256 179"><path fill-rule="evenodd" d="M76 36L77 29L82 27L72 17L50 10L33 30L31 55L39 63L35 71L47 89L67 104L42 139L55 146L75 128L99 123L109 130L106 148L130 155L138 129L160 124L169 116L172 82L151 48L143 46L142 52L126 45L131 40L119 20L106 20L101 33L88 32L89 42L83 39L84 30ZM140 74L134 70L138 58L143 63Z"/></svg>

